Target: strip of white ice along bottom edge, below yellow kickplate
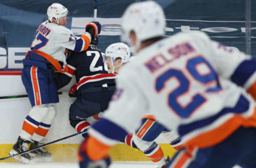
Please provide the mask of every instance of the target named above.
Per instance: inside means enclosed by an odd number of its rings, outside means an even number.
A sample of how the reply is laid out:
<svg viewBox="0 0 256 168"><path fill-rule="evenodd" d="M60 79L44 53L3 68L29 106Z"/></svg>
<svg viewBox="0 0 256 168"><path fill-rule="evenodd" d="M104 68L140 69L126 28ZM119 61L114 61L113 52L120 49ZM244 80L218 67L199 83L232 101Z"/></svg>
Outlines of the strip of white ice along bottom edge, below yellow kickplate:
<svg viewBox="0 0 256 168"><path fill-rule="evenodd" d="M0 163L1 168L79 168L78 163ZM109 168L156 168L150 162L115 162ZM218 168L218 167L216 167ZM234 166L233 168L241 168Z"/></svg>

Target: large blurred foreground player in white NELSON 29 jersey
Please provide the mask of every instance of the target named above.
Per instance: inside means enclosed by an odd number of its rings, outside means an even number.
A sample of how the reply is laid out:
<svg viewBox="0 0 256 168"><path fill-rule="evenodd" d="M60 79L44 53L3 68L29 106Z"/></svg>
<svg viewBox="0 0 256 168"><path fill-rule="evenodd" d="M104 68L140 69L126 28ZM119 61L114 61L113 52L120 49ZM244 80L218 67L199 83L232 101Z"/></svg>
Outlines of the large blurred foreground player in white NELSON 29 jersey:
<svg viewBox="0 0 256 168"><path fill-rule="evenodd" d="M122 40L137 58L118 74L108 110L81 145L80 166L109 165L111 146L148 112L181 138L182 148L167 167L256 167L256 59L203 32L162 39L164 28L155 2L126 9Z"/></svg>

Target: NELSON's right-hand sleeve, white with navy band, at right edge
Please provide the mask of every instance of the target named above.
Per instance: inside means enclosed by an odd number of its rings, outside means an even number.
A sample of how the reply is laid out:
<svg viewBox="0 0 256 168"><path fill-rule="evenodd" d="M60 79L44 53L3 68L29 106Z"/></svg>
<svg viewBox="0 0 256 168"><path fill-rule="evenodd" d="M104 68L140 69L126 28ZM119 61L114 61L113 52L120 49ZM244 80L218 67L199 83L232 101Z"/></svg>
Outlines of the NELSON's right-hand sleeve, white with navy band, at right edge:
<svg viewBox="0 0 256 168"><path fill-rule="evenodd" d="M256 58L202 36L202 47L221 77L243 87L256 99Z"/></svg>

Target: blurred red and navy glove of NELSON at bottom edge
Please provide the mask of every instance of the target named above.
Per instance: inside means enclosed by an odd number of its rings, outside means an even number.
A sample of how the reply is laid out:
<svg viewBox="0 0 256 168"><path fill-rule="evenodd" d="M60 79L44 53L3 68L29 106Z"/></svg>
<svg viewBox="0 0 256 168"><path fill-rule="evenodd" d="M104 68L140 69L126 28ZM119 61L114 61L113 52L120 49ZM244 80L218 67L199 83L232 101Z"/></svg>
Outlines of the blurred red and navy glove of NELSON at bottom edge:
<svg viewBox="0 0 256 168"><path fill-rule="evenodd" d="M80 168L108 168L111 163L110 157L103 158L100 161L92 161L85 153L86 145L87 145L87 139L82 143L78 152L79 167Z"/></svg>

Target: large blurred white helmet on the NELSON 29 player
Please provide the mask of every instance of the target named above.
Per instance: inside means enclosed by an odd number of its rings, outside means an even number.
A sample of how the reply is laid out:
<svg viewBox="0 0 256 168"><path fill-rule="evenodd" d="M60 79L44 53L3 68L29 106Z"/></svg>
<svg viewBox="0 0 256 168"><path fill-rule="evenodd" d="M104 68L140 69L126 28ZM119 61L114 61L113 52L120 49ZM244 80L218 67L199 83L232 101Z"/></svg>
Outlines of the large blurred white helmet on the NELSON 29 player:
<svg viewBox="0 0 256 168"><path fill-rule="evenodd" d="M165 15L162 7L154 1L133 3L125 10L122 21L121 40L129 43L130 32L134 31L137 37L135 50L141 41L165 34Z"/></svg>

